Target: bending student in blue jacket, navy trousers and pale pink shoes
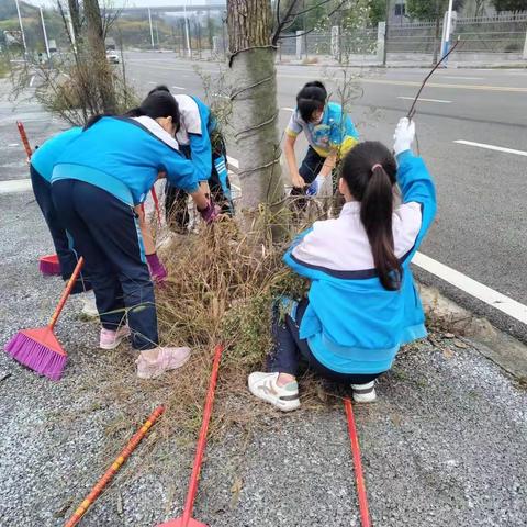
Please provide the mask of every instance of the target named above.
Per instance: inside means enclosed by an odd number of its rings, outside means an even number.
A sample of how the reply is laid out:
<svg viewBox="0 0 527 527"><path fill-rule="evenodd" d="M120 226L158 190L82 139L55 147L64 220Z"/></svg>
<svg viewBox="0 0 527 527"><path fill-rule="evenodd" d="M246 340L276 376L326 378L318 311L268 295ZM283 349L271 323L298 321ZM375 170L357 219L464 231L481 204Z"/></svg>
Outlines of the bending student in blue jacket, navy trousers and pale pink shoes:
<svg viewBox="0 0 527 527"><path fill-rule="evenodd" d="M86 259L102 324L100 347L132 335L137 374L149 379L178 368L188 348L159 347L154 288L134 206L159 172L184 189L205 222L214 206L200 189L194 166L173 137L179 112L168 93L153 93L135 116L99 116L58 157L52 195L58 217Z"/></svg>

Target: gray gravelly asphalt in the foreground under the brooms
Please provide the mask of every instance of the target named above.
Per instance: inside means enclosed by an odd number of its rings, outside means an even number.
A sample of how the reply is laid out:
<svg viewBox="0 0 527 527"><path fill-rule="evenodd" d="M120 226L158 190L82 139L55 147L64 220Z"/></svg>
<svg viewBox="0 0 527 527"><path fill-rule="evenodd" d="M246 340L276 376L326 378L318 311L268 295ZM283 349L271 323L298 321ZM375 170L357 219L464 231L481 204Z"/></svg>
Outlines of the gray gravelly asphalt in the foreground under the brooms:
<svg viewBox="0 0 527 527"><path fill-rule="evenodd" d="M37 257L52 245L31 198L0 195L2 343L20 327L42 325L58 296L59 280L37 271ZM124 346L97 349L97 324L80 321L78 310L72 299L58 324L69 355L60 382L0 354L2 526L64 525L170 391L170 380L138 381ZM470 343L448 336L433 343L401 354L378 385L378 403L355 407L373 525L524 526L525 388ZM304 389L301 383L305 412L269 410L251 426L234 419L211 444L197 519L212 527L360 525L341 404L329 397L335 404L310 411ZM234 392L216 402L213 415L259 404ZM81 525L153 527L180 515L193 456L182 435L175 424L171 434L142 444Z"/></svg>

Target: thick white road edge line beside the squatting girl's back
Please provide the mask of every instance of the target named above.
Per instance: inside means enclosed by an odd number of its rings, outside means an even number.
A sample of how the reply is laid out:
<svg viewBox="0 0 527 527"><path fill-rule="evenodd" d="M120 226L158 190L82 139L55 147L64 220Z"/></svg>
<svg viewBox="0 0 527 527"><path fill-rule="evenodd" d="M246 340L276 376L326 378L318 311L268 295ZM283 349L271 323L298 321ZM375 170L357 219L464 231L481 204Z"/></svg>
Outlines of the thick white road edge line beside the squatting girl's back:
<svg viewBox="0 0 527 527"><path fill-rule="evenodd" d="M467 277L466 274L456 271L455 269L434 260L433 258L425 256L421 253L416 253L413 264L421 267L425 271L435 274L436 277L445 280L451 285L460 289L461 291L481 300L485 304L502 311L503 313L512 316L513 318L527 324L527 305L520 304L515 300L498 293L486 285Z"/></svg>

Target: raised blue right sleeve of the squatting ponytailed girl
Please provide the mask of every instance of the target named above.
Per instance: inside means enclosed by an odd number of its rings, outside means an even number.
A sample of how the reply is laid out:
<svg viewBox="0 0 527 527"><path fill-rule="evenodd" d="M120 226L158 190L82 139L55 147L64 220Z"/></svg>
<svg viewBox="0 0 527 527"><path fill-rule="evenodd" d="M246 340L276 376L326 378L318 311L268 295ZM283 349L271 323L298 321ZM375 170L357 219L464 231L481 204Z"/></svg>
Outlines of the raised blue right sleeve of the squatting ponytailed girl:
<svg viewBox="0 0 527 527"><path fill-rule="evenodd" d="M422 205L423 222L415 244L417 247L436 215L436 187L423 159L414 157L411 150L402 152L397 156L397 182L403 203L415 201Z"/></svg>

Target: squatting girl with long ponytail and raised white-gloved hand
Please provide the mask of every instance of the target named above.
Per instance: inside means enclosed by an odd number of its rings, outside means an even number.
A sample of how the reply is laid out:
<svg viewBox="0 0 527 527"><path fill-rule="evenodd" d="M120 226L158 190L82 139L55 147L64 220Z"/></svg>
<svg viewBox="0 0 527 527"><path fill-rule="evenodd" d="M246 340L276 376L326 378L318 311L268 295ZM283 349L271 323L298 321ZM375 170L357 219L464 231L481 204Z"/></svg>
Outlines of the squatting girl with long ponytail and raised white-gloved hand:
<svg viewBox="0 0 527 527"><path fill-rule="evenodd" d="M436 213L434 182L411 145L415 124L402 119L394 152L377 142L351 149L338 188L340 216L315 222L284 256L311 280L306 299L281 299L273 316L268 372L249 375L250 392L288 412L300 406L299 361L321 377L350 384L357 402L375 400L374 380L400 347L426 336L410 262ZM394 208L396 186L402 204ZM278 312L284 314L280 319Z"/></svg>

